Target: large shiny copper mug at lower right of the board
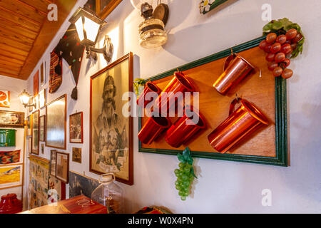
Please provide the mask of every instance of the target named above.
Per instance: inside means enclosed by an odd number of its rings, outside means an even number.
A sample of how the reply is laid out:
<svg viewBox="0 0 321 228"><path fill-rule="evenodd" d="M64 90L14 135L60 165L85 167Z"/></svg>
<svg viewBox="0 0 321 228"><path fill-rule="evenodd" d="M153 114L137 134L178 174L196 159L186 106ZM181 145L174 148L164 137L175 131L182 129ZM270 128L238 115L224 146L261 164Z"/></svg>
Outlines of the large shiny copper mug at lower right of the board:
<svg viewBox="0 0 321 228"><path fill-rule="evenodd" d="M236 103L241 103L237 110ZM215 150L225 153L263 125L268 125L268 120L253 103L235 98L230 104L228 118L208 135L208 141Z"/></svg>

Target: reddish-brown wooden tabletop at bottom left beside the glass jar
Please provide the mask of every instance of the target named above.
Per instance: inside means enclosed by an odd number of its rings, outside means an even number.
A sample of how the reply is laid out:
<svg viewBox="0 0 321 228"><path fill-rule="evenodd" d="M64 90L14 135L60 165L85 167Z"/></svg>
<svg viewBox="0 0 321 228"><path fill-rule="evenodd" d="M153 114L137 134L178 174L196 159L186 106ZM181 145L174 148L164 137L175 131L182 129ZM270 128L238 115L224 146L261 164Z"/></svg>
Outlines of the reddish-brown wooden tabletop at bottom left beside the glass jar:
<svg viewBox="0 0 321 228"><path fill-rule="evenodd" d="M107 209L90 198L79 195L19 214L107 214Z"/></svg>

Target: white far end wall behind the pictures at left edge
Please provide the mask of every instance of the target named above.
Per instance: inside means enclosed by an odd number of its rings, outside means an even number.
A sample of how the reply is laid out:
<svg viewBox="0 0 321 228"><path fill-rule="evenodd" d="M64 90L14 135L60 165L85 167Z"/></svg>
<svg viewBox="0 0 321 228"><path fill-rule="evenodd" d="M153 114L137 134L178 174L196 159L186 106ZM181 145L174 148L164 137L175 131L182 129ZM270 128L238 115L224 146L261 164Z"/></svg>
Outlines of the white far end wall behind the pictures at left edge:
<svg viewBox="0 0 321 228"><path fill-rule="evenodd" d="M25 112L24 106L21 105L20 99L18 97L19 93L26 88L26 81L9 78L6 76L0 76L0 90L10 91L10 108L0 108L0 110L10 110L16 112ZM25 113L26 118L26 113ZM6 128L1 128L6 129ZM13 128L7 128L13 129ZM24 162L24 128L14 128L16 129L16 146L15 147L0 147L1 151L12 151L21 150L20 162ZM26 167L24 166L26 170ZM1 177L0 177L1 178ZM26 182L26 179L24 180ZM21 199L22 187L11 187L4 190L0 190L0 197L9 193L16 193L17 198ZM24 190L24 198L26 191Z"/></svg>

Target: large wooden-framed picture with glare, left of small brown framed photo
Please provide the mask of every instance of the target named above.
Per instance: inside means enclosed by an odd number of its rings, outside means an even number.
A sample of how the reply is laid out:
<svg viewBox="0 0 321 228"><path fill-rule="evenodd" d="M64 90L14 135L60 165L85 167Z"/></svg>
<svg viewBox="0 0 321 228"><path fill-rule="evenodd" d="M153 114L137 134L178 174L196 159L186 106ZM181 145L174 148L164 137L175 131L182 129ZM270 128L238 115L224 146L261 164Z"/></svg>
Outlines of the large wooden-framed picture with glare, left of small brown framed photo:
<svg viewBox="0 0 321 228"><path fill-rule="evenodd" d="M63 113L63 115L64 115L63 116L63 122L64 122L64 124L63 124L63 131L64 131L63 135L64 135L64 140L63 140L63 143L61 143L61 146L59 146L59 145L57 146L57 145L51 145L50 144L50 140L48 139L48 137L51 136L51 131L53 131L53 132L55 131L55 129L54 130L49 130L49 124L51 123L51 120L49 121L49 118L50 118L49 114L51 114L51 113L49 113L48 109L50 108L49 106L56 105L55 103L60 101L60 100L63 100L63 102L64 102L64 108L63 108L64 109L63 110L63 112L64 112ZM55 116L55 118L59 118L59 117ZM53 122L54 122L54 124L57 123L57 121L53 121ZM57 148L57 149L66 150L66 135L67 135L66 122L67 122L67 95L64 94L64 95L61 95L59 98L56 98L56 100L53 100L53 101L51 101L50 103L48 103L46 105L46 120L45 120L45 124L46 124L46 147L53 147L53 148Z"/></svg>

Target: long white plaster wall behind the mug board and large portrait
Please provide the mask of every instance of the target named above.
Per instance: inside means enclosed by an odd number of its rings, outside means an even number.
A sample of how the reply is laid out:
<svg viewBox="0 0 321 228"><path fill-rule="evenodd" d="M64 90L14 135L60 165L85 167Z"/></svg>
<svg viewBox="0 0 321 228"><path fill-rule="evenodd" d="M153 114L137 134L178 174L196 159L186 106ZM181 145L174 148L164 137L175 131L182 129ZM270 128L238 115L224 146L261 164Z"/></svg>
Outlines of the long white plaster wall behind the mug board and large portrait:
<svg viewBox="0 0 321 228"><path fill-rule="evenodd" d="M165 0L164 0L165 2ZM106 19L103 34L111 36L115 46L113 61L128 52L134 56L134 78L148 78L176 68L210 54L262 35L266 21L261 19L261 6L272 6L272 18L289 18L302 26L307 38L302 56L292 61L295 75L287 81L289 114L290 167L255 165L242 162L195 159L198 180L192 197L180 201L175 190L173 170L178 165L175 156L138 152L138 122L133 124L134 185L121 185L125 190L126 211L133 212L143 206L162 205L175 213L307 213L321 212L320 135L321 71L320 66L320 6L317 0L231 0L220 11L200 15L198 1L168 0L168 43L161 48L143 49L138 44L138 24L143 20L129 0L122 3ZM78 1L77 6L85 3ZM75 8L76 9L76 6ZM51 42L41 61L49 61L49 52L56 46L68 28L65 21ZM40 63L36 70L39 69ZM83 111L84 141L82 164L70 162L70 170L89 177L89 78L106 66L100 56L97 63L83 60L78 81L78 100L70 98L75 86L71 71L63 63L63 84L47 102L68 95L68 115ZM34 75L31 74L31 76ZM32 90L32 77L27 82ZM43 115L45 110L41 110ZM67 121L68 126L68 121ZM69 134L67 133L67 139ZM73 145L67 143L66 152ZM46 147L49 159L51 148ZM263 207L261 192L272 191L272 206ZM68 196L68 185L67 185Z"/></svg>

